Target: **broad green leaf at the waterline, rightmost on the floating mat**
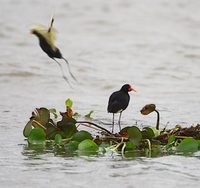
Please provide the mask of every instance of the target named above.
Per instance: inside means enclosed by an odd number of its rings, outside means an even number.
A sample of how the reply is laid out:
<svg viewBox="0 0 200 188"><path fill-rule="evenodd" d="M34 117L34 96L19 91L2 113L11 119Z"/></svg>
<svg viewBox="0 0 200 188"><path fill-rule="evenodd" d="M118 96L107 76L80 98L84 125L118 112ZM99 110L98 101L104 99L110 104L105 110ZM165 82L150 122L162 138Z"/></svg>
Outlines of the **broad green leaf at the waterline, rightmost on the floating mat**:
<svg viewBox="0 0 200 188"><path fill-rule="evenodd" d="M198 141L193 138L185 138L176 147L178 152L195 152L198 151Z"/></svg>

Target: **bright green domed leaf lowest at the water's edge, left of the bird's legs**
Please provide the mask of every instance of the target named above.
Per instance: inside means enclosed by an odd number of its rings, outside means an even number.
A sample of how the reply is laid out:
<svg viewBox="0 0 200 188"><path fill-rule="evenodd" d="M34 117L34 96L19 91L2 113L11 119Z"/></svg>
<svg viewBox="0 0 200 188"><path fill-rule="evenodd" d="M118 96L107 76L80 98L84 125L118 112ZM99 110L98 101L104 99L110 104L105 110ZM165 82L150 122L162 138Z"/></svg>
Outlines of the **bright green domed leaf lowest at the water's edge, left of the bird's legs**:
<svg viewBox="0 0 200 188"><path fill-rule="evenodd" d="M83 140L78 145L78 150L81 154L95 154L98 151L98 145L90 139Z"/></svg>

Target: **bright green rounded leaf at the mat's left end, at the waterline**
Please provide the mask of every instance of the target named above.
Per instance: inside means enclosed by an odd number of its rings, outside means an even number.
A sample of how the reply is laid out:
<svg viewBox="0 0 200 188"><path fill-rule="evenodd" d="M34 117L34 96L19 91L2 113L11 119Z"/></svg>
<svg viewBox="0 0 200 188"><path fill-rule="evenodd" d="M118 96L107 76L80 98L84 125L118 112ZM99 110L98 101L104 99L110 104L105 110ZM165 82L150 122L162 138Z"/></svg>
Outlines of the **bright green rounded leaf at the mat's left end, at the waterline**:
<svg viewBox="0 0 200 188"><path fill-rule="evenodd" d="M34 128L28 136L28 142L32 145L45 145L46 134L41 128Z"/></svg>

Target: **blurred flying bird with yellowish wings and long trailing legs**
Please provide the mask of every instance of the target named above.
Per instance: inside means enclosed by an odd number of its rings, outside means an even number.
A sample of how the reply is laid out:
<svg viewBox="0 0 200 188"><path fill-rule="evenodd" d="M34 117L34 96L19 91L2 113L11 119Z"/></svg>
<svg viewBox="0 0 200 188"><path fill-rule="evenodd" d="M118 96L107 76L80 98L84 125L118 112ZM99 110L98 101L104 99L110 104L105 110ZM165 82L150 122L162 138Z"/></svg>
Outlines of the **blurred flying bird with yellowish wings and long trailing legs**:
<svg viewBox="0 0 200 188"><path fill-rule="evenodd" d="M63 59L67 63L71 77L77 81L70 70L69 62L62 56L60 50L55 46L56 34L55 29L53 28L53 22L54 18L52 18L50 27L48 29L40 25L33 26L31 33L38 37L42 50L59 65L63 78L69 83L67 77L64 75L61 64L55 58Z"/></svg>

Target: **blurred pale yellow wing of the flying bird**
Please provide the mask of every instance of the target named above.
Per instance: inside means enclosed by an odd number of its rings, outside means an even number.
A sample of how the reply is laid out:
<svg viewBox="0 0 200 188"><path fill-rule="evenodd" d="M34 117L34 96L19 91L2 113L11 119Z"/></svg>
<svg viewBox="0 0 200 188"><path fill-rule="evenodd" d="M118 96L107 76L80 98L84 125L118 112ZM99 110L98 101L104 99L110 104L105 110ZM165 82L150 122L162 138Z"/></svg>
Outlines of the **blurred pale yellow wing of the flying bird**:
<svg viewBox="0 0 200 188"><path fill-rule="evenodd" d="M41 34L47 41L47 43L53 48L56 49L55 41L56 41L56 30L55 28L50 26L50 28L46 29L42 25L33 25L31 30L37 31L39 34Z"/></svg>

